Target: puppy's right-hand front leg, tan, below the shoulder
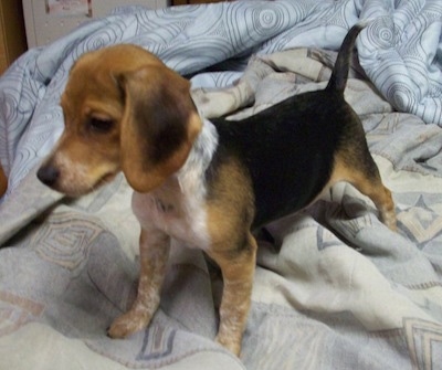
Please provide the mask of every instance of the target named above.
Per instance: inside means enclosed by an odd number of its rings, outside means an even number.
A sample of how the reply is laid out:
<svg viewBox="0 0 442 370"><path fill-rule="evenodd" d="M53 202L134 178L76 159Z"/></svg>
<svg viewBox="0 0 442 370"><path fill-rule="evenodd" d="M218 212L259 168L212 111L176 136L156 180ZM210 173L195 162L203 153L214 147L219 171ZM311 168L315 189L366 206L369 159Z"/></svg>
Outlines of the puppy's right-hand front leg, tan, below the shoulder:
<svg viewBox="0 0 442 370"><path fill-rule="evenodd" d="M210 256L220 266L224 283L217 341L239 356L251 304L256 242L249 233L245 245Z"/></svg>

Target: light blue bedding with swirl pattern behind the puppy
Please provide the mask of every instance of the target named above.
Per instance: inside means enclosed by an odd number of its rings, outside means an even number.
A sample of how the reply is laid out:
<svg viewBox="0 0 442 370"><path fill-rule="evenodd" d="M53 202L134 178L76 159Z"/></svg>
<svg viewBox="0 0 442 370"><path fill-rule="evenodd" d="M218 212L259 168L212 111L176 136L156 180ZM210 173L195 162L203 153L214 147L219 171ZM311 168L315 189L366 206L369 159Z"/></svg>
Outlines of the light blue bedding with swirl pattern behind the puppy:
<svg viewBox="0 0 442 370"><path fill-rule="evenodd" d="M0 80L0 159L11 192L63 127L59 97L72 63L115 43L143 45L182 74L252 53L297 46L336 50L359 20L360 63L400 112L442 125L442 3L439 0L240 1L150 11L122 8L48 47L28 52ZM231 68L241 64L231 63ZM224 68L225 70L225 68ZM239 73L199 78L225 86Z"/></svg>

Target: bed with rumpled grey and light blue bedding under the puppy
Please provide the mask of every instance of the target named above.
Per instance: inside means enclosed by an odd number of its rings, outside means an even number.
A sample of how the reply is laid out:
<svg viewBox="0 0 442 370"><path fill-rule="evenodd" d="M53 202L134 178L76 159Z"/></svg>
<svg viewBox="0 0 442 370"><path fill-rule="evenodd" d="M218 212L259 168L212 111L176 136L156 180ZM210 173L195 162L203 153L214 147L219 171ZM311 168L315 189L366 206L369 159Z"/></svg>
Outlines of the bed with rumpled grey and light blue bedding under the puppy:
<svg viewBox="0 0 442 370"><path fill-rule="evenodd" d="M348 29L346 98L392 190L397 233L351 186L267 226L240 358L214 341L221 281L173 244L160 309L126 340L138 224L123 176L66 199L35 178L63 129L84 52L135 43L191 78L207 117L243 117L323 88ZM122 7L27 52L0 78L0 369L442 369L442 3L236 1Z"/></svg>

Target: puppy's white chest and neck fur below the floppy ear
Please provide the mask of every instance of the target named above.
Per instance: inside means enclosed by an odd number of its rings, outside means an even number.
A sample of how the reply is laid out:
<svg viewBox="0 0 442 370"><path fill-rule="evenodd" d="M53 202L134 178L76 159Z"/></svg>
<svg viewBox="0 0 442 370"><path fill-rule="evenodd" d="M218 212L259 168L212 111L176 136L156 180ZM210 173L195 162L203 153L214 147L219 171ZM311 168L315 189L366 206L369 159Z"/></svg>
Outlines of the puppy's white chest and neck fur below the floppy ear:
<svg viewBox="0 0 442 370"><path fill-rule="evenodd" d="M185 166L150 193L134 193L133 210L144 229L160 230L189 247L210 247L204 171L217 147L218 133L204 121Z"/></svg>

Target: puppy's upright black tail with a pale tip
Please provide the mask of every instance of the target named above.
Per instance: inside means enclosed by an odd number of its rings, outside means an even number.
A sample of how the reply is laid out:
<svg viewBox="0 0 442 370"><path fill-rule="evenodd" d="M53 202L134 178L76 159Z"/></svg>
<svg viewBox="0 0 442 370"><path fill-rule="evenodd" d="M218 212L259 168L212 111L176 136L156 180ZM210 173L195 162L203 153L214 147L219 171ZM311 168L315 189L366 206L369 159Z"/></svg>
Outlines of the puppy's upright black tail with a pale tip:
<svg viewBox="0 0 442 370"><path fill-rule="evenodd" d="M350 60L352 50L355 49L356 38L359 32L368 24L368 22L359 22L355 24L345 36L333 68L330 80L326 89L332 92L343 92L347 84L348 72L350 68Z"/></svg>

